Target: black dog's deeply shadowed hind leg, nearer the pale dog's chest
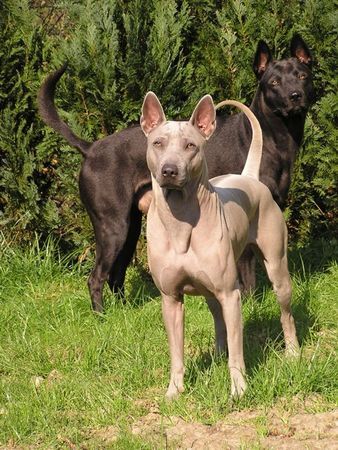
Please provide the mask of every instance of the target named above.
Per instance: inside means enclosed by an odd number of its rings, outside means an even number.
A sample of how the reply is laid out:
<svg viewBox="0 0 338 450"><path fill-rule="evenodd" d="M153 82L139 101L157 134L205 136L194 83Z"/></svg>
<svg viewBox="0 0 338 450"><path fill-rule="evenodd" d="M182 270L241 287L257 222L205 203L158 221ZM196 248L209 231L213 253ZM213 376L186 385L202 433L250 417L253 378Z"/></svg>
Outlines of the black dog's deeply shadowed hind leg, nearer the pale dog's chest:
<svg viewBox="0 0 338 450"><path fill-rule="evenodd" d="M115 294L120 294L124 298L124 279L127 267L135 253L136 244L141 233L142 213L136 206L132 206L130 211L130 221L127 239L122 250L118 254L109 273L109 287Z"/></svg>

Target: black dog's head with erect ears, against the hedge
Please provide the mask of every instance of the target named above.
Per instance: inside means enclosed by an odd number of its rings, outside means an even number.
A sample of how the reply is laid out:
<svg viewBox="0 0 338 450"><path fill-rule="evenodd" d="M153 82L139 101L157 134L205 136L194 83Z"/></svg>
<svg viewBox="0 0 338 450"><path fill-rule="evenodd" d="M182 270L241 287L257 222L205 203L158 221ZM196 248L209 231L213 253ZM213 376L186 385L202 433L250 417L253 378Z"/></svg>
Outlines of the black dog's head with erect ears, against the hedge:
<svg viewBox="0 0 338 450"><path fill-rule="evenodd" d="M285 118L305 114L314 96L312 57L299 35L292 38L290 52L290 58L273 60L268 45L260 41L253 64L265 103Z"/></svg>

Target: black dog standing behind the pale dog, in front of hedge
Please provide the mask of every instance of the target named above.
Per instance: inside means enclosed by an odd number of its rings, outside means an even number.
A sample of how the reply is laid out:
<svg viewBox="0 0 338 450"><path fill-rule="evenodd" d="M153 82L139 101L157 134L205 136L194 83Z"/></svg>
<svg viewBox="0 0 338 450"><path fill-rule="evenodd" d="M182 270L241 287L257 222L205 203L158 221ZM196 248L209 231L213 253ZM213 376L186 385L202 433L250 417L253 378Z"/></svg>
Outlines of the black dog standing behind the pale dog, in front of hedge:
<svg viewBox="0 0 338 450"><path fill-rule="evenodd" d="M291 57L273 61L260 41L254 59L259 80L251 109L263 131L260 179L283 207L290 177L302 141L306 112L313 96L310 52L300 36L291 41ZM45 123L59 132L84 156L80 195L96 238L95 267L88 286L95 311L102 311L102 289L108 280L113 292L122 292L128 264L141 231L142 213L151 200L146 164L146 139L140 127L92 143L77 137L58 116L54 105L56 84L65 68L47 77L38 96ZM240 173L251 142L251 128L243 114L218 118L214 136L205 148L210 177ZM239 265L244 288L254 285L253 254Z"/></svg>

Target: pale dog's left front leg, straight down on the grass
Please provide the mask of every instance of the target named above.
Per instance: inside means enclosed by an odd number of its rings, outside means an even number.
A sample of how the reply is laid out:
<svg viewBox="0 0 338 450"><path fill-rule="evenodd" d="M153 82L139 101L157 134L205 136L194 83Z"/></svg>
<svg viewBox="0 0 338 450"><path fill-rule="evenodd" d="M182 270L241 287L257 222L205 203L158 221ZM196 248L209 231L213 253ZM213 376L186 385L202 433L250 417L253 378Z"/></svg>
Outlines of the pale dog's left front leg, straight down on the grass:
<svg viewBox="0 0 338 450"><path fill-rule="evenodd" d="M162 294L162 314L168 335L170 351L170 383L168 399L183 392L184 376L184 304L183 297Z"/></svg>

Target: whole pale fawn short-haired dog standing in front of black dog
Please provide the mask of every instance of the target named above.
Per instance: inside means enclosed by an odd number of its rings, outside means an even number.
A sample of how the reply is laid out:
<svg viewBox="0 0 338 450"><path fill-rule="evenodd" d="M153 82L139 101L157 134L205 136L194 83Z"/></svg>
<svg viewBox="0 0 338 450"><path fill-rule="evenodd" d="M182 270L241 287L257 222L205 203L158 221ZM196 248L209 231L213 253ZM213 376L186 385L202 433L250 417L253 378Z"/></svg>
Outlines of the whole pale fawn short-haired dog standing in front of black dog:
<svg viewBox="0 0 338 450"><path fill-rule="evenodd" d="M201 99L189 122L168 122L155 94L144 100L141 127L147 136L147 163L153 200L147 216L148 261L162 295L171 373L166 396L183 391L183 295L204 295L213 314L216 350L227 336L231 394L246 388L240 292L236 263L247 244L264 260L281 307L288 353L298 351L291 315L291 282L287 266L287 230L283 214L261 183L262 134L249 108L240 103L253 139L241 175L208 181L204 143L215 129L210 96Z"/></svg>

